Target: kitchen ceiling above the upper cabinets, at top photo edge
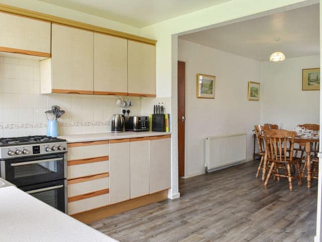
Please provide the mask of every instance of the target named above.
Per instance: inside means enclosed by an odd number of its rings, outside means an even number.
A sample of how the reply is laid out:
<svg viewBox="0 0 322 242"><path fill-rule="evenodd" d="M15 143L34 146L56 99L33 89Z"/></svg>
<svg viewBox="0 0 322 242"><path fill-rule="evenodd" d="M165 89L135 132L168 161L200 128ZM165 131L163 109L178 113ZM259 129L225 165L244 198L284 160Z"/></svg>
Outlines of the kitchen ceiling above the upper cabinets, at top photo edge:
<svg viewBox="0 0 322 242"><path fill-rule="evenodd" d="M68 9L144 27L229 0L40 0Z"/></svg>

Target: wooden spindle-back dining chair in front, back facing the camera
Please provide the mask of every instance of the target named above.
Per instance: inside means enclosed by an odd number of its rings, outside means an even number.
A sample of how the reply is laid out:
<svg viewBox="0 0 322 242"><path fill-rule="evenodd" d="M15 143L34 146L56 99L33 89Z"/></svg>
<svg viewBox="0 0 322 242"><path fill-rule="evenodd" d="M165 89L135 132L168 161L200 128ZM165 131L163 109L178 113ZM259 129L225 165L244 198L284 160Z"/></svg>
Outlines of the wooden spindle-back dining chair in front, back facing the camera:
<svg viewBox="0 0 322 242"><path fill-rule="evenodd" d="M293 156L294 150L294 139L296 132L287 131L287 130L265 130L264 139L265 139L265 149L267 151L267 160L271 162L270 170L267 174L264 186L267 186L270 176L273 174L274 180L277 178L280 180L280 177L288 178L288 185L290 191L292 191L292 180L299 179L299 185L302 185L302 175L301 175L301 158ZM286 148L289 147L289 152ZM291 166L296 165L297 175L292 174ZM279 173L279 167L286 168L286 174Z"/></svg>

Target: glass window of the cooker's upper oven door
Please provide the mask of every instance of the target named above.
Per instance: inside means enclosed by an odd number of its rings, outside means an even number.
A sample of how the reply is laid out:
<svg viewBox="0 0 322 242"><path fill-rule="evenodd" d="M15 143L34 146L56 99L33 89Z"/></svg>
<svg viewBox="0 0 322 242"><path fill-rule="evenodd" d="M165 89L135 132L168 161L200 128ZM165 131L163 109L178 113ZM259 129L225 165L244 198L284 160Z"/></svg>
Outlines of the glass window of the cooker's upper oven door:
<svg viewBox="0 0 322 242"><path fill-rule="evenodd" d="M18 165L14 167L15 178L56 172L57 161L45 161L33 164Z"/></svg>

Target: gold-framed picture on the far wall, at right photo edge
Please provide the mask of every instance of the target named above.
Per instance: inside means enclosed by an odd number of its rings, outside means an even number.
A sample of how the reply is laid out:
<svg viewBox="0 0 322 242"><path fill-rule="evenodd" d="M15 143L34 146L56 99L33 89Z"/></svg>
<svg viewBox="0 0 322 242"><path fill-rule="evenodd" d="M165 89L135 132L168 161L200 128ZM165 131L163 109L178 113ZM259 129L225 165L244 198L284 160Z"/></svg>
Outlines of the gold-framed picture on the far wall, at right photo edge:
<svg viewBox="0 0 322 242"><path fill-rule="evenodd" d="M320 69L302 70L302 91L320 90Z"/></svg>

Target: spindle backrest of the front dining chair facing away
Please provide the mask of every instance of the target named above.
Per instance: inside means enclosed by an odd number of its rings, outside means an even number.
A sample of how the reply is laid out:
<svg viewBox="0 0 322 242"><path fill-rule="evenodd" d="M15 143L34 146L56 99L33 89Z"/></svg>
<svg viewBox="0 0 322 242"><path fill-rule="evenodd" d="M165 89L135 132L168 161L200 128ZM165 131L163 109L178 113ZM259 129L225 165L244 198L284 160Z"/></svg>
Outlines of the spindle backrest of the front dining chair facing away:
<svg viewBox="0 0 322 242"><path fill-rule="evenodd" d="M264 130L265 148L268 157L275 161L286 161L287 158L293 160L295 131L288 130ZM289 144L288 144L289 143ZM289 157L287 157L287 147L289 147Z"/></svg>

